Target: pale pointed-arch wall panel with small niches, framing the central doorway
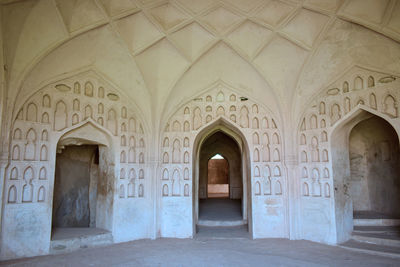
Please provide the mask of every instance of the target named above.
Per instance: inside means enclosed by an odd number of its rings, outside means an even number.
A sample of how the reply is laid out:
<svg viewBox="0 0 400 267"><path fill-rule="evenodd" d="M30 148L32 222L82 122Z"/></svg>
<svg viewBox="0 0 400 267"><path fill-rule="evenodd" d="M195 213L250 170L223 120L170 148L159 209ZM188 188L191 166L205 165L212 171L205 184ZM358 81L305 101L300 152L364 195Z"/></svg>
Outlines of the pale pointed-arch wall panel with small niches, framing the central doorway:
<svg viewBox="0 0 400 267"><path fill-rule="evenodd" d="M166 118L160 134L160 236L185 238L196 233L199 144L218 129L236 140L245 158L243 214L252 237L287 237L287 181L279 121L268 108L241 97L226 84L213 85Z"/></svg>

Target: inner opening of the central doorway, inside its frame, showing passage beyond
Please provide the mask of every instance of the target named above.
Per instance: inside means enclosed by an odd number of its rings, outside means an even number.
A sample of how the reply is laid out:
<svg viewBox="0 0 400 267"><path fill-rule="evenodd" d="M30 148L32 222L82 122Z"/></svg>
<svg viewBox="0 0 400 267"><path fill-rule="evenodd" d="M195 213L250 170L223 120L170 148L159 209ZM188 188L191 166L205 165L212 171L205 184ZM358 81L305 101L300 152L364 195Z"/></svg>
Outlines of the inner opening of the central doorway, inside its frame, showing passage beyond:
<svg viewBox="0 0 400 267"><path fill-rule="evenodd" d="M200 147L199 224L243 224L242 198L241 149L231 136L216 131Z"/></svg>

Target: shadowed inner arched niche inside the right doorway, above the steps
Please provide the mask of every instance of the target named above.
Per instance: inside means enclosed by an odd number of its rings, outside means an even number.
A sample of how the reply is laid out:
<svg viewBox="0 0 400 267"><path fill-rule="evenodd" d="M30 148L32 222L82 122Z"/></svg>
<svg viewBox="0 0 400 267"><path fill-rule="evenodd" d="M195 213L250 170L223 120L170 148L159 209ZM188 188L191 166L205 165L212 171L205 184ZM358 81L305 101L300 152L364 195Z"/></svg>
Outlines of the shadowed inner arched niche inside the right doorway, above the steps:
<svg viewBox="0 0 400 267"><path fill-rule="evenodd" d="M349 137L349 192L354 218L400 216L400 149L394 128L373 116Z"/></svg>

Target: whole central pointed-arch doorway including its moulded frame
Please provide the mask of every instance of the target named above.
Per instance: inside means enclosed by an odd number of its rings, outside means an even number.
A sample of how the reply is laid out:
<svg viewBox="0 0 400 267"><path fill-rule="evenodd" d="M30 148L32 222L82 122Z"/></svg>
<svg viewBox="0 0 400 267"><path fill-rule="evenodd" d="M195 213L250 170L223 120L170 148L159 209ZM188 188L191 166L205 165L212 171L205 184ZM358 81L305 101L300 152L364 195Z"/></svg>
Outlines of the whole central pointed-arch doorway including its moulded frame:
<svg viewBox="0 0 400 267"><path fill-rule="evenodd" d="M198 225L248 224L251 194L245 140L240 131L223 119L204 128L196 137L193 153L194 233Z"/></svg>

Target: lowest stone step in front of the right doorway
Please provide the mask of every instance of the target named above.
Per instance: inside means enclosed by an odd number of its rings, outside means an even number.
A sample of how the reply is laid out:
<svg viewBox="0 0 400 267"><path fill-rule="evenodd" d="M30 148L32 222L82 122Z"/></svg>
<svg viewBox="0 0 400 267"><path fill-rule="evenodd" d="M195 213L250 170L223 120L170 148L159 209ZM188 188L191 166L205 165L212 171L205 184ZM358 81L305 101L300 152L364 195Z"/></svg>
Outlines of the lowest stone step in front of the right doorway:
<svg viewBox="0 0 400 267"><path fill-rule="evenodd" d="M343 244L340 244L339 247L342 247L342 248L345 248L348 250L352 250L352 251L368 253L368 254L372 254L372 255L400 258L400 248L399 247L370 244L370 243L366 243L366 242L359 242L359 241L352 240L352 239L350 239L349 241L347 241Z"/></svg>

